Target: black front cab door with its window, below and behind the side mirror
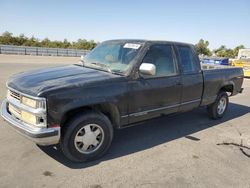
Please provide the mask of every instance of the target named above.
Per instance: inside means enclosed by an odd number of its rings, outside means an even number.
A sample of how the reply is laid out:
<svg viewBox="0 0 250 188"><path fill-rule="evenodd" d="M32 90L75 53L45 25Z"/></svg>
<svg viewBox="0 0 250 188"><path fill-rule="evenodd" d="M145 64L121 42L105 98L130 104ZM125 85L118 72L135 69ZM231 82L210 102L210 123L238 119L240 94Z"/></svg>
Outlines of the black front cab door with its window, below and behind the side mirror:
<svg viewBox="0 0 250 188"><path fill-rule="evenodd" d="M154 64L156 74L140 75L129 82L129 123L177 112L181 102L181 77L173 46L150 46L143 63Z"/></svg>

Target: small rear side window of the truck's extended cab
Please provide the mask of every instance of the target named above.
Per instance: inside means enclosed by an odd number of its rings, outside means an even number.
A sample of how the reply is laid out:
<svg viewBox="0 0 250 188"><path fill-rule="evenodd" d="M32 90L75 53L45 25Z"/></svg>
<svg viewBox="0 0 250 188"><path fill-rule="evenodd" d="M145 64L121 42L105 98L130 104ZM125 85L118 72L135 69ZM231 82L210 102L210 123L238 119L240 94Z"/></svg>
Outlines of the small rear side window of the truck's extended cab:
<svg viewBox="0 0 250 188"><path fill-rule="evenodd" d="M188 46L177 46L177 51L183 73L197 72L198 67L192 49Z"/></svg>

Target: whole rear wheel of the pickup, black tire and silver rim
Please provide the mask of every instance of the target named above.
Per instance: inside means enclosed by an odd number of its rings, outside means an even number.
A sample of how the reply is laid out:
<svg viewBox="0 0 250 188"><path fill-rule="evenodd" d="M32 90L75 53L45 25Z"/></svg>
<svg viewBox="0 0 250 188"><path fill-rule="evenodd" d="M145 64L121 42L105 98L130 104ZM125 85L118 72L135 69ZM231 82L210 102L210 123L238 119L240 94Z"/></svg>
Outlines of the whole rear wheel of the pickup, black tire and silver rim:
<svg viewBox="0 0 250 188"><path fill-rule="evenodd" d="M208 115L212 119L220 119L224 116L228 107L228 95L220 92L216 101L208 106Z"/></svg>

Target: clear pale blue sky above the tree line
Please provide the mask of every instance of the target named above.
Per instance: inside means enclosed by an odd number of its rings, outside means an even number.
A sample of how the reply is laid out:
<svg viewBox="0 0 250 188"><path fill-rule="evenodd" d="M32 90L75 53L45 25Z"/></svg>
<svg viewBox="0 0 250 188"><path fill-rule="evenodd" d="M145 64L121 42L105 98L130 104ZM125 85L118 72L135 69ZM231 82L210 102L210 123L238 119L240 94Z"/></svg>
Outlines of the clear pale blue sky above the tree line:
<svg viewBox="0 0 250 188"><path fill-rule="evenodd" d="M0 34L250 48L250 0L0 0Z"/></svg>

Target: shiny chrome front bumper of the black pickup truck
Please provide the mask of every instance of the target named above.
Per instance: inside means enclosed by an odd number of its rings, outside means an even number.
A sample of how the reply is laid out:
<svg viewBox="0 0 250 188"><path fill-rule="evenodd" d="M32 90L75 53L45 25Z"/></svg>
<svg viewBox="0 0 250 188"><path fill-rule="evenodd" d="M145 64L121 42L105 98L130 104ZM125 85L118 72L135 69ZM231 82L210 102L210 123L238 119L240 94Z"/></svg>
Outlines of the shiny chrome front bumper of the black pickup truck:
<svg viewBox="0 0 250 188"><path fill-rule="evenodd" d="M11 127L38 145L53 145L57 144L60 140L60 127L39 128L14 118L7 111L7 100L2 102L1 116L11 125Z"/></svg>

